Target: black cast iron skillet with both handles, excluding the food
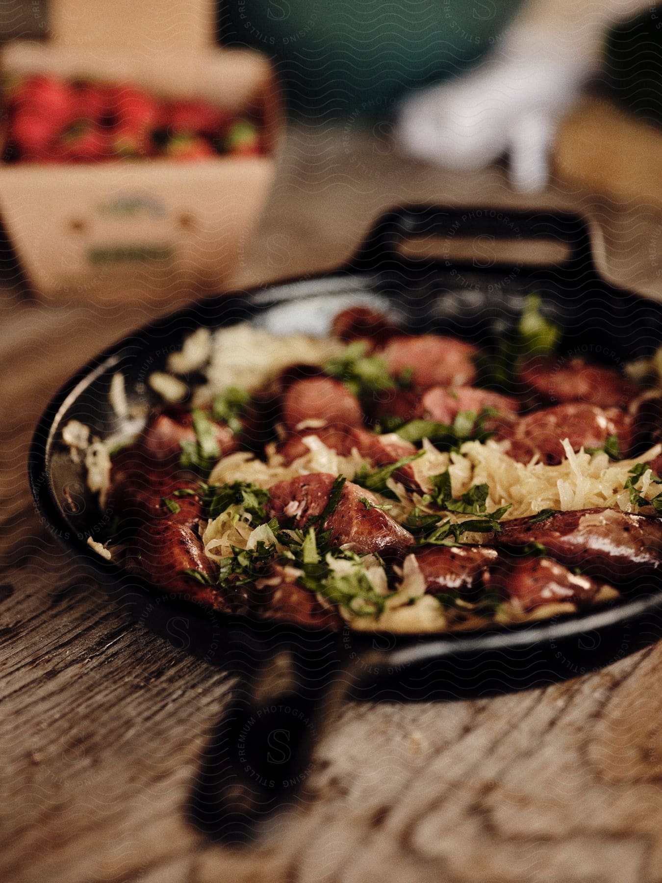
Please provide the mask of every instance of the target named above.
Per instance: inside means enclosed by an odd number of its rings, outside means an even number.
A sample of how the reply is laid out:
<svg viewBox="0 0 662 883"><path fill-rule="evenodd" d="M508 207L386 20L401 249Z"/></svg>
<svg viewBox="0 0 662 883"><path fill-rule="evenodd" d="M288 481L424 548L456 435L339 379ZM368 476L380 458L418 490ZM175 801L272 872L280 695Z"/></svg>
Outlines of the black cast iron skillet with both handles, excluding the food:
<svg viewBox="0 0 662 883"><path fill-rule="evenodd" d="M438 256L404 256L410 240L434 240ZM473 243L473 256L452 260L461 240ZM501 240L516 260L499 260ZM550 242L565 246L563 260L524 263L531 244ZM335 273L207 299L142 328L81 368L49 404L29 458L45 522L107 577L111 598L128 605L139 623L240 675L192 796L191 817L207 833L244 838L268 811L305 790L298 787L312 743L342 696L455 698L580 675L658 638L662 592L651 582L588 615L463 635L338 635L221 615L154 591L87 546L88 535L102 539L108 532L112 513L101 512L87 494L80 467L62 446L61 427L75 418L102 438L116 431L108 394L117 371L132 400L155 404L148 374L199 326L252 321L276 332L321 335L342 307L366 303L386 309L412 334L439 330L489 346L508 336L531 291L564 329L569 355L621 365L651 355L662 342L662 307L598 276L578 217L419 206L382 217Z"/></svg>

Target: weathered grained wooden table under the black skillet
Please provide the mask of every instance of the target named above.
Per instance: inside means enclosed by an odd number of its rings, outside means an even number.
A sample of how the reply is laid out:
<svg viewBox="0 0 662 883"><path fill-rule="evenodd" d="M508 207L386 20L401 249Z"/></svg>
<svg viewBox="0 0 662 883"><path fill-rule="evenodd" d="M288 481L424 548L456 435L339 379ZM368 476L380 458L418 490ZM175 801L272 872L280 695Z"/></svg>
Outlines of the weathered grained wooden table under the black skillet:
<svg viewBox="0 0 662 883"><path fill-rule="evenodd" d="M558 187L531 203L498 169L442 174L382 147L295 132L237 283L334 266L395 202L577 204ZM631 242L641 215L599 208L599 242L622 237L610 272L658 291L657 252ZM662 880L662 645L545 690L347 704L316 753L310 803L272 841L238 851L194 834L184 801L232 675L111 605L40 524L25 478L56 387L169 306L46 306L19 297L10 273L0 308L4 883Z"/></svg>

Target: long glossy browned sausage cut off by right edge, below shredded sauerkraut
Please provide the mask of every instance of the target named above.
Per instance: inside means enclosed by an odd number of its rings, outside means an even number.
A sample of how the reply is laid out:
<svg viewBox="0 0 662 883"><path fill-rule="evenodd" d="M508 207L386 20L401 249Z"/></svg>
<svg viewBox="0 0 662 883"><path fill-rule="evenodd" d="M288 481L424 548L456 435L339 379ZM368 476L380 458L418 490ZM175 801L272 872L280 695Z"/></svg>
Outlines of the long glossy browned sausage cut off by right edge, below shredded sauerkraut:
<svg viewBox="0 0 662 883"><path fill-rule="evenodd" d="M590 577L627 582L662 570L662 519L618 509L557 512L538 524L530 518L501 522L500 547L540 543L567 567Z"/></svg>

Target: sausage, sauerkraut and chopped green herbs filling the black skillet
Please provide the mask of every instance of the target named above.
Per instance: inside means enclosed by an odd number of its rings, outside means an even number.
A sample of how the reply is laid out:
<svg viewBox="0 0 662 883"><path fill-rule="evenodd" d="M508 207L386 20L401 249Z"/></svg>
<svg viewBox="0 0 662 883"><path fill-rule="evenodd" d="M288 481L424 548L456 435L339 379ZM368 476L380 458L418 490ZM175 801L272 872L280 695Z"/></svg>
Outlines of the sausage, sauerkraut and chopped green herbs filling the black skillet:
<svg viewBox="0 0 662 883"><path fill-rule="evenodd" d="M656 359L559 343L535 296L494 351L365 306L326 339L199 329L131 440L64 427L114 522L90 544L164 591L331 629L485 628L650 589ZM111 402L126 416L120 374Z"/></svg>

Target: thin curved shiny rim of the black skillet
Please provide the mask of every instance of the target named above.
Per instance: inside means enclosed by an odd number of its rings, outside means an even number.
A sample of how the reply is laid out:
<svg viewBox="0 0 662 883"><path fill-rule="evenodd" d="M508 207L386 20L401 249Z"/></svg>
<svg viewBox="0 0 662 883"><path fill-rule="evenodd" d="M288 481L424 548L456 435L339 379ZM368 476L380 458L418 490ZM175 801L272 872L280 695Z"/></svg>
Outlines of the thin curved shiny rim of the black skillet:
<svg viewBox="0 0 662 883"><path fill-rule="evenodd" d="M60 512L50 472L50 460L56 430L60 425L59 415L64 412L77 395L87 389L96 376L103 374L114 360L119 360L121 352L128 345L132 347L142 345L144 348L148 338L154 336L154 332L158 332L174 322L181 321L182 327L185 328L186 332L191 330L189 324L191 321L198 327L203 325L210 328L214 328L214 326L219 327L218 316L219 313L222 313L223 304L224 302L230 302L232 298L242 298L249 306L267 306L268 303L272 302L282 303L295 300L296 298L293 296L292 291L290 291L292 288L305 287L305 285L315 283L320 279L328 281L335 278L343 278L347 280L349 286L352 281L356 282L358 279L369 278L372 275L374 275L372 271L357 271L356 268L344 267L330 273L321 272L306 276L304 279L295 277L282 280L281 282L256 286L245 291L235 290L215 295L148 322L129 335L118 339L115 343L111 343L101 353L89 359L84 366L81 366L71 374L71 377L64 382L51 398L41 414L30 443L27 469L28 479L34 504L41 516L42 524L47 525L50 532L64 546L71 548L78 555L83 555L84 560L88 564L92 564L94 570L106 579L111 578L119 583L122 579L130 577L132 588L139 588L141 592L147 592L147 597L149 598L155 600L164 596L171 597L171 593L162 592L148 583L147 580L130 574L129 571L117 562L102 559L100 555L87 545L87 540L79 539L79 532L72 528ZM280 298L278 297L279 292L281 293ZM265 296L267 294L269 298L266 302ZM304 293L302 297L306 297L306 294ZM205 321L205 313L209 314L207 321ZM209 321L212 317L214 317L215 322ZM185 320L188 320L189 323L186 323ZM384 636L391 641L392 645L388 649L382 649L379 652L386 655L391 654L391 656L402 656L402 660L397 660L397 663L400 664L401 662L416 662L431 657L460 656L464 653L479 653L481 651L515 650L527 645L531 645L533 648L542 648L543 646L554 645L554 642L575 638L590 631L607 630L609 627L617 624L621 626L626 624L632 625L651 613L662 611L662 591L660 591L662 585L659 585L658 578L656 582L658 583L656 591L650 595L622 603L615 602L608 607L598 608L593 612L560 615L552 620L515 623L510 626L500 626L498 629L475 632L397 633L387 630L361 632L348 629L338 633L327 629L312 629L295 623L277 623L272 620L263 620L248 615L223 613L222 611L214 610L214 608L192 602L184 596L171 600L171 603L177 610L187 608L192 614L197 613L199 616L202 616L203 612L207 613L207 617L210 614L218 615L222 623L226 624L229 629L233 626L239 626L243 627L244 630L251 630L253 633L256 630L259 632L275 632L282 635L285 632L289 632L290 639L292 634L304 640L306 636L310 638L313 635L342 635L346 631L350 631L352 643L366 645L370 642L372 643L372 648L374 648L373 639L377 636ZM395 645L393 645L394 641Z"/></svg>

